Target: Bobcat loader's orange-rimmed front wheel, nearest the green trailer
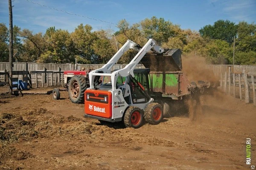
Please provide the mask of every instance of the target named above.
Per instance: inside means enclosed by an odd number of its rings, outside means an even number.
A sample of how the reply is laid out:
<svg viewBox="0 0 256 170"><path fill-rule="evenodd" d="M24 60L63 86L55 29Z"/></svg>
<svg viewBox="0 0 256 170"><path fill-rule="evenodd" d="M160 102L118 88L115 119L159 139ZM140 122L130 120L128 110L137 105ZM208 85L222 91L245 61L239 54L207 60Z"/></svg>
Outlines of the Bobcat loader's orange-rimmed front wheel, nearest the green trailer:
<svg viewBox="0 0 256 170"><path fill-rule="evenodd" d="M149 103L144 112L145 121L157 125L163 119L163 108L158 103Z"/></svg>

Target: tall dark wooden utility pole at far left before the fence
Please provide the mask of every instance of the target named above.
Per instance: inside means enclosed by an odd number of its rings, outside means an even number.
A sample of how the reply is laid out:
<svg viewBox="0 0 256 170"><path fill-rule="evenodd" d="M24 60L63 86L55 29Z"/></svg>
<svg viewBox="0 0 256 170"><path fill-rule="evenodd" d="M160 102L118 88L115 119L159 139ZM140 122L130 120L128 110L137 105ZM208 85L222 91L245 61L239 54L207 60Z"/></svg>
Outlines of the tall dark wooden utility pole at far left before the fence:
<svg viewBox="0 0 256 170"><path fill-rule="evenodd" d="M9 92L10 92L10 94L12 94L12 58L13 58L12 0L9 0L9 31L10 31L10 41L9 41Z"/></svg>

